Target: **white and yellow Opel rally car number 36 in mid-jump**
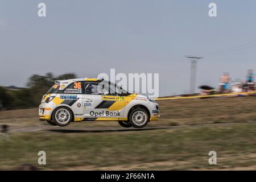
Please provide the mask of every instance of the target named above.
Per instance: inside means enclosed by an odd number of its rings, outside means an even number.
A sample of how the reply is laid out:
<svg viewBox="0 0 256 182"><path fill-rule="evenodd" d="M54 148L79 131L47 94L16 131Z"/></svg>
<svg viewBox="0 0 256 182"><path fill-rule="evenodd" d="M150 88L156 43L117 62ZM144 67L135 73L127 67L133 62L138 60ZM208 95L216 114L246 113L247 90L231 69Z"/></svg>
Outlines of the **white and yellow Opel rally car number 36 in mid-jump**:
<svg viewBox="0 0 256 182"><path fill-rule="evenodd" d="M128 93L102 78L57 80L43 96L39 116L58 126L96 120L142 128L158 120L159 106L146 96Z"/></svg>

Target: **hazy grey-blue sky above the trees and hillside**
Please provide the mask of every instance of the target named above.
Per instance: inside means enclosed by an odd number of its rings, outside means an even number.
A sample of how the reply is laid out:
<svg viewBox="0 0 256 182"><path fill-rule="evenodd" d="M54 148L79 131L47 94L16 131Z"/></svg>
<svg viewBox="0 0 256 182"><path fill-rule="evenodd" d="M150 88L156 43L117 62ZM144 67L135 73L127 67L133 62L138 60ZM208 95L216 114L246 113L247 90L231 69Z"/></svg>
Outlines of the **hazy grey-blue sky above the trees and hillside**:
<svg viewBox="0 0 256 182"><path fill-rule="evenodd" d="M46 3L46 17L38 4ZM217 17L208 15L209 3ZM0 85L26 86L33 74L159 73L160 96L218 86L223 72L245 80L256 69L256 1L0 0Z"/></svg>

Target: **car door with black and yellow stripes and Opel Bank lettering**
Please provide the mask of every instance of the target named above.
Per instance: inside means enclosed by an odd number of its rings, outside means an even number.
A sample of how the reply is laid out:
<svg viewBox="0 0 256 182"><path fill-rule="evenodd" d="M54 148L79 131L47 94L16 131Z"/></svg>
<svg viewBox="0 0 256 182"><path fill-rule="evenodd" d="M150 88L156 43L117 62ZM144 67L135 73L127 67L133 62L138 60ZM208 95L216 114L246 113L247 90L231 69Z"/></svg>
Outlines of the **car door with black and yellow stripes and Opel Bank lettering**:
<svg viewBox="0 0 256 182"><path fill-rule="evenodd" d="M109 82L85 82L82 106L86 118L123 118L125 101Z"/></svg>

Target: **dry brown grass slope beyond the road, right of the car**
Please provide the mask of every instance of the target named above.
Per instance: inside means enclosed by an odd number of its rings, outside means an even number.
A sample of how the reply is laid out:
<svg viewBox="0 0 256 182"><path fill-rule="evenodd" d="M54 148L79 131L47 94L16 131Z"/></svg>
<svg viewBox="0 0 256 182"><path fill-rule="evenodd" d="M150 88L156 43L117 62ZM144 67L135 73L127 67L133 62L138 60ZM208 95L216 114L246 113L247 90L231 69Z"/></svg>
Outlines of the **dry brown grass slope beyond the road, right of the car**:
<svg viewBox="0 0 256 182"><path fill-rule="evenodd" d="M256 121L256 97L209 98L158 101L161 122L168 125L203 125Z"/></svg>

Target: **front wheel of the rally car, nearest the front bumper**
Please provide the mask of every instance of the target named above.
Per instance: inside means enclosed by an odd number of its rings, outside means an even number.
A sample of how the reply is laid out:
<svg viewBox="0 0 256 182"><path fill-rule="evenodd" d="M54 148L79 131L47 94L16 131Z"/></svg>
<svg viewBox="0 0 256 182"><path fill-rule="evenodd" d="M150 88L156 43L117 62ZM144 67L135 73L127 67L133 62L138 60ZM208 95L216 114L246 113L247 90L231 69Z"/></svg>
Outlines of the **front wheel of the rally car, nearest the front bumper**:
<svg viewBox="0 0 256 182"><path fill-rule="evenodd" d="M146 110L142 108L137 108L131 111L129 115L129 122L131 126L141 129L142 127L146 126L149 121L149 115ZM141 123L139 123L141 122Z"/></svg>

